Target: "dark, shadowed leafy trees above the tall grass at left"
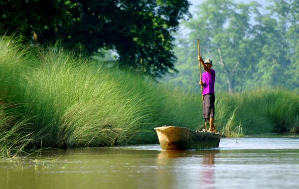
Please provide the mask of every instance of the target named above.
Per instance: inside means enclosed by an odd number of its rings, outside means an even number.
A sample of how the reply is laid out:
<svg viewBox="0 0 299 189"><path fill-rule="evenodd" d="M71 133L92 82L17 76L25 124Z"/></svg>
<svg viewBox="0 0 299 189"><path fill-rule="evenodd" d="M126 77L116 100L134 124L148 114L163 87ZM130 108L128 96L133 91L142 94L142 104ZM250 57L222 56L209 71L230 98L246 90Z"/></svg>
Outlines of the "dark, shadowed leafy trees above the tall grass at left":
<svg viewBox="0 0 299 189"><path fill-rule="evenodd" d="M35 31L41 43L61 37L88 52L115 49L120 67L161 77L176 71L171 32L188 7L187 0L1 0L0 21L9 32Z"/></svg>

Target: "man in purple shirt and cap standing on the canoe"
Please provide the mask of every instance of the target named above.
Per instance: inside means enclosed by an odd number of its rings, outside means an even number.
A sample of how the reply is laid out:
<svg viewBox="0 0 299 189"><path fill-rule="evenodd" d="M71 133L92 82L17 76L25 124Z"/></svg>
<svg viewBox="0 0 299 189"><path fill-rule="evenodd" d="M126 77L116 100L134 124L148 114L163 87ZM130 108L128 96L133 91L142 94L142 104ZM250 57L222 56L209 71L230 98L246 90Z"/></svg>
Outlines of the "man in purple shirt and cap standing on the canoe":
<svg viewBox="0 0 299 189"><path fill-rule="evenodd" d="M202 73L202 80L199 81L199 84L203 87L203 118L207 119L210 123L210 128L208 132L216 133L216 127L214 125L214 116L215 116L215 70L211 67L213 62L211 59L203 59L198 56L199 62L202 63L202 66L205 72Z"/></svg>

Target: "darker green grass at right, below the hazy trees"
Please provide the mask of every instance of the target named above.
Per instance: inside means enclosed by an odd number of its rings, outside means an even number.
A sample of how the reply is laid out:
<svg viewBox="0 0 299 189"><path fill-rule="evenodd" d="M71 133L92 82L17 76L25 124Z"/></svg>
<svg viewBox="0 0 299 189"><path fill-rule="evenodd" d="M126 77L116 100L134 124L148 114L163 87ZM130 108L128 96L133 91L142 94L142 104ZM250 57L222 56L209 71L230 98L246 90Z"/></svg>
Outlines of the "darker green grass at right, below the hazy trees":
<svg viewBox="0 0 299 189"><path fill-rule="evenodd" d="M285 89L258 89L235 94L246 134L290 132L299 115L299 97Z"/></svg>

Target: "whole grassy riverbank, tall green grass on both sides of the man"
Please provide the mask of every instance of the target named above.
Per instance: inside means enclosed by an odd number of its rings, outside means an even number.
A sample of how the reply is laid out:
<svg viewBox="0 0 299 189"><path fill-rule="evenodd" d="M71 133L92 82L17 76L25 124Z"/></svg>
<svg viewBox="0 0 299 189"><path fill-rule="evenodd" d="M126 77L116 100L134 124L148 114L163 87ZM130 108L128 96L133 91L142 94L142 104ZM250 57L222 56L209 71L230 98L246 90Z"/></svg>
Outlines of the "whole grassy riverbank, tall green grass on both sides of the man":
<svg viewBox="0 0 299 189"><path fill-rule="evenodd" d="M154 127L202 127L200 94L84 59L59 45L0 37L1 156L40 147L157 143ZM299 95L285 89L221 93L225 137L299 132Z"/></svg>

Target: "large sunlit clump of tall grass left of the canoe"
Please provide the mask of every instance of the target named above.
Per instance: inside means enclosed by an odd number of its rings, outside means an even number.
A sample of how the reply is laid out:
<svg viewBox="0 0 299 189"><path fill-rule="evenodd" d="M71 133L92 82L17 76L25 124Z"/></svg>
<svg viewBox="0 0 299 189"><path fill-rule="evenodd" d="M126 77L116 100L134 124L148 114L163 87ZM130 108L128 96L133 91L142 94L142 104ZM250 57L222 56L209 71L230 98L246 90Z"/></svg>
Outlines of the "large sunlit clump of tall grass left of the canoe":
<svg viewBox="0 0 299 189"><path fill-rule="evenodd" d="M195 94L162 87L130 72L93 66L58 45L19 51L24 47L11 41L1 40L9 52L0 64L9 68L1 78L5 91L1 98L14 104L20 117L31 118L31 130L40 133L47 146L154 143L153 127L195 128L199 121L198 109L191 113L196 119L184 115L190 106L182 100L194 104Z"/></svg>

